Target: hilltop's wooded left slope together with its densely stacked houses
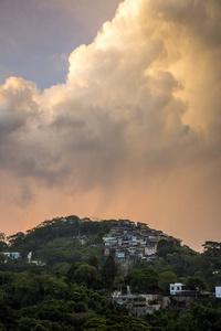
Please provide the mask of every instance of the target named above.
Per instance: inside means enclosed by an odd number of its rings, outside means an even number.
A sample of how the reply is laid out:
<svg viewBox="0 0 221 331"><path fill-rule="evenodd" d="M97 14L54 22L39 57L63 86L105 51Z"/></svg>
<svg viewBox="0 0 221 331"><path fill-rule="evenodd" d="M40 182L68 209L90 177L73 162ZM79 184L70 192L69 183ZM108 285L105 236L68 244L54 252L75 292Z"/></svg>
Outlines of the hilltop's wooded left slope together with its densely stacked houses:
<svg viewBox="0 0 221 331"><path fill-rule="evenodd" d="M27 261L54 266L59 263L88 261L97 256L102 261L113 255L118 261L125 259L150 259L156 256L160 239L171 239L161 231L129 220L92 221L76 215L45 220L38 226L11 236L1 234L1 260L6 269L17 259L17 268Z"/></svg>

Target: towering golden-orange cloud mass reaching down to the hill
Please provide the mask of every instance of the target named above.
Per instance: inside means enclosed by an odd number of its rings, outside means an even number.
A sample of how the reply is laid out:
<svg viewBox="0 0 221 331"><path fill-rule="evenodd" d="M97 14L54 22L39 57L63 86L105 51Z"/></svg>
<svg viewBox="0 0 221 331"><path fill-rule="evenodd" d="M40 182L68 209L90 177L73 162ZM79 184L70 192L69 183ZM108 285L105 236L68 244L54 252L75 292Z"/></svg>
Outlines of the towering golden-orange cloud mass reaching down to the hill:
<svg viewBox="0 0 221 331"><path fill-rule="evenodd" d="M130 217L197 248L217 239L220 17L215 0L126 0L72 52L65 84L40 94L9 78L0 171L20 205L60 196L63 214Z"/></svg>

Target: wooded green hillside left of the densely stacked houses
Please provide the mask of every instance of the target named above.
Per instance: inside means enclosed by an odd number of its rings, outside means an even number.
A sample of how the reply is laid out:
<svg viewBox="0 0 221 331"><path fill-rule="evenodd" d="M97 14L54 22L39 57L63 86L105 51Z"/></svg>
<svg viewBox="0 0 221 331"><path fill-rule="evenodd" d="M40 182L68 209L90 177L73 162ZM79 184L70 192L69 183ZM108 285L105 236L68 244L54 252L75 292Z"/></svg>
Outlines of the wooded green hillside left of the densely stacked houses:
<svg viewBox="0 0 221 331"><path fill-rule="evenodd" d="M0 252L20 252L22 259L8 261L4 265L0 257L0 270L29 269L28 254L32 252L32 260L54 266L57 263L72 264L88 261L92 256L103 258L102 237L109 232L110 222L92 222L88 218L82 222L77 216L44 221L39 226L29 229L25 234L19 232L8 237L8 245L0 241Z"/></svg>

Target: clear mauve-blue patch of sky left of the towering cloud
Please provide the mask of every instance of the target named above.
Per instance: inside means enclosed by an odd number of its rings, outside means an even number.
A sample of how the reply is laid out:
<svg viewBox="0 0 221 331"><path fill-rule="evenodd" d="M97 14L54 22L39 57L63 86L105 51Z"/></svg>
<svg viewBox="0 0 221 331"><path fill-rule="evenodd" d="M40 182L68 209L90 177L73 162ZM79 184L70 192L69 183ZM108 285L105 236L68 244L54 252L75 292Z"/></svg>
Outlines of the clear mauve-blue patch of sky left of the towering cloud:
<svg viewBox="0 0 221 331"><path fill-rule="evenodd" d="M10 75L33 81L41 89L63 83L69 67L59 57L90 43L118 2L0 1L0 84Z"/></svg>

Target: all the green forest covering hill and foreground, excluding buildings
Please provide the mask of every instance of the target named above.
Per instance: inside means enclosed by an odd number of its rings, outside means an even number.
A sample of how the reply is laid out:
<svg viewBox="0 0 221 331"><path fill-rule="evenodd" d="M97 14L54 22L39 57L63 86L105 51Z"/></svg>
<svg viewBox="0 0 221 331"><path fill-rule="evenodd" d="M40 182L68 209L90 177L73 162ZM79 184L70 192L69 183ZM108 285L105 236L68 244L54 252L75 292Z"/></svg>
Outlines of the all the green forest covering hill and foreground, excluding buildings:
<svg viewBox="0 0 221 331"><path fill-rule="evenodd" d="M155 259L125 268L104 257L102 237L109 229L110 220L81 222L73 215L8 237L1 233L0 330L221 330L221 299L213 297L221 285L221 243L206 242L198 253L179 239L162 239ZM183 306L171 298L167 308L137 317L109 299L127 286L169 296L169 284L177 281L199 300Z"/></svg>

